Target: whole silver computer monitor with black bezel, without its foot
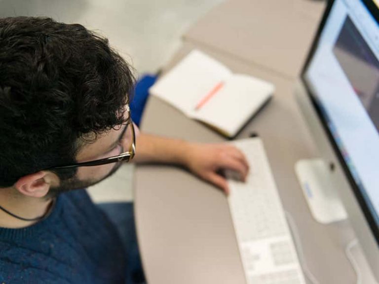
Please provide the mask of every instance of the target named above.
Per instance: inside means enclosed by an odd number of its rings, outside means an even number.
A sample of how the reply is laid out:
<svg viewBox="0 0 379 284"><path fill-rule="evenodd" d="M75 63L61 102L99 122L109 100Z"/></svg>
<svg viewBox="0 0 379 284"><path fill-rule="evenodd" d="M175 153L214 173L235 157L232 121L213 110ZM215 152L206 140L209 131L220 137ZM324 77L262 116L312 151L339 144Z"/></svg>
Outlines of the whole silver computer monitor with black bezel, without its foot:
<svg viewBox="0 0 379 284"><path fill-rule="evenodd" d="M327 178L325 202L339 193L379 281L378 23L376 0L329 1L295 94L326 166L318 176ZM307 199L314 198L300 179Z"/></svg>

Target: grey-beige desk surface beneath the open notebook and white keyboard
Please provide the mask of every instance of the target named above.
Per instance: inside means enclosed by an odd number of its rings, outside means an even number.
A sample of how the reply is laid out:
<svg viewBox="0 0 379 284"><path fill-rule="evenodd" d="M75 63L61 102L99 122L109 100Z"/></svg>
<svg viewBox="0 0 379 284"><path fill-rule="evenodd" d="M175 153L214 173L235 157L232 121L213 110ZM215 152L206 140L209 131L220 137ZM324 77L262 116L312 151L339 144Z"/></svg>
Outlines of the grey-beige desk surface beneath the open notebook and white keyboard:
<svg viewBox="0 0 379 284"><path fill-rule="evenodd" d="M192 48L187 42L168 69ZM319 283L355 283L344 254L354 238L347 221L321 225L313 220L294 173L301 158L314 157L309 134L293 99L293 81L249 66L196 44L232 71L251 74L276 86L273 100L239 135L258 132L284 208L299 228L305 260ZM149 99L142 130L198 142L223 138L155 97ZM135 177L137 232L150 284L244 283L226 197L212 185L171 166L139 166Z"/></svg>

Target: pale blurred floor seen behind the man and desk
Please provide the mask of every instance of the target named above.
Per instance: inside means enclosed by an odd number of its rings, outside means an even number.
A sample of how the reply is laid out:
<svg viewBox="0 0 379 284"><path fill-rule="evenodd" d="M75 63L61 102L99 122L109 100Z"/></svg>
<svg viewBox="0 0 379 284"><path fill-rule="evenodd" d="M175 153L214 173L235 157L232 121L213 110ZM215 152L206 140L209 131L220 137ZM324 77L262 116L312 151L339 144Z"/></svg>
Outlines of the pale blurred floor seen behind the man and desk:
<svg viewBox="0 0 379 284"><path fill-rule="evenodd" d="M196 19L223 0L0 0L0 17L49 16L107 36L136 69L154 73L180 47ZM95 202L133 200L133 165L92 186Z"/></svg>

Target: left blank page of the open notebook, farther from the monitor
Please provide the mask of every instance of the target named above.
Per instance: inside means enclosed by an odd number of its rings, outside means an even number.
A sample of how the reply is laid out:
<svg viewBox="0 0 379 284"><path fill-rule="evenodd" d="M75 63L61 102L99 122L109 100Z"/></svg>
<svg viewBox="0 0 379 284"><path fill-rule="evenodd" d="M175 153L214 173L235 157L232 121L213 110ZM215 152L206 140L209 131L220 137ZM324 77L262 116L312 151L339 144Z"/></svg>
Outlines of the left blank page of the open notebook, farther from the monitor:
<svg viewBox="0 0 379 284"><path fill-rule="evenodd" d="M159 79L149 92L189 116L201 99L230 75L224 65L201 51L193 50Z"/></svg>

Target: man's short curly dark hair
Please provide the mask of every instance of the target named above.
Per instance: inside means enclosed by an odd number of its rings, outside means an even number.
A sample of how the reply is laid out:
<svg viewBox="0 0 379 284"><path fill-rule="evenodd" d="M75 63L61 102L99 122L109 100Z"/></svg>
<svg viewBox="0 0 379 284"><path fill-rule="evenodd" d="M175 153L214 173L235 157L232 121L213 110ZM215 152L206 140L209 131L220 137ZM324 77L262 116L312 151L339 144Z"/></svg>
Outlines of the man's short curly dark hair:
<svg viewBox="0 0 379 284"><path fill-rule="evenodd" d="M0 19L0 187L76 162L88 134L126 121L133 84L108 40L79 24Z"/></svg>

